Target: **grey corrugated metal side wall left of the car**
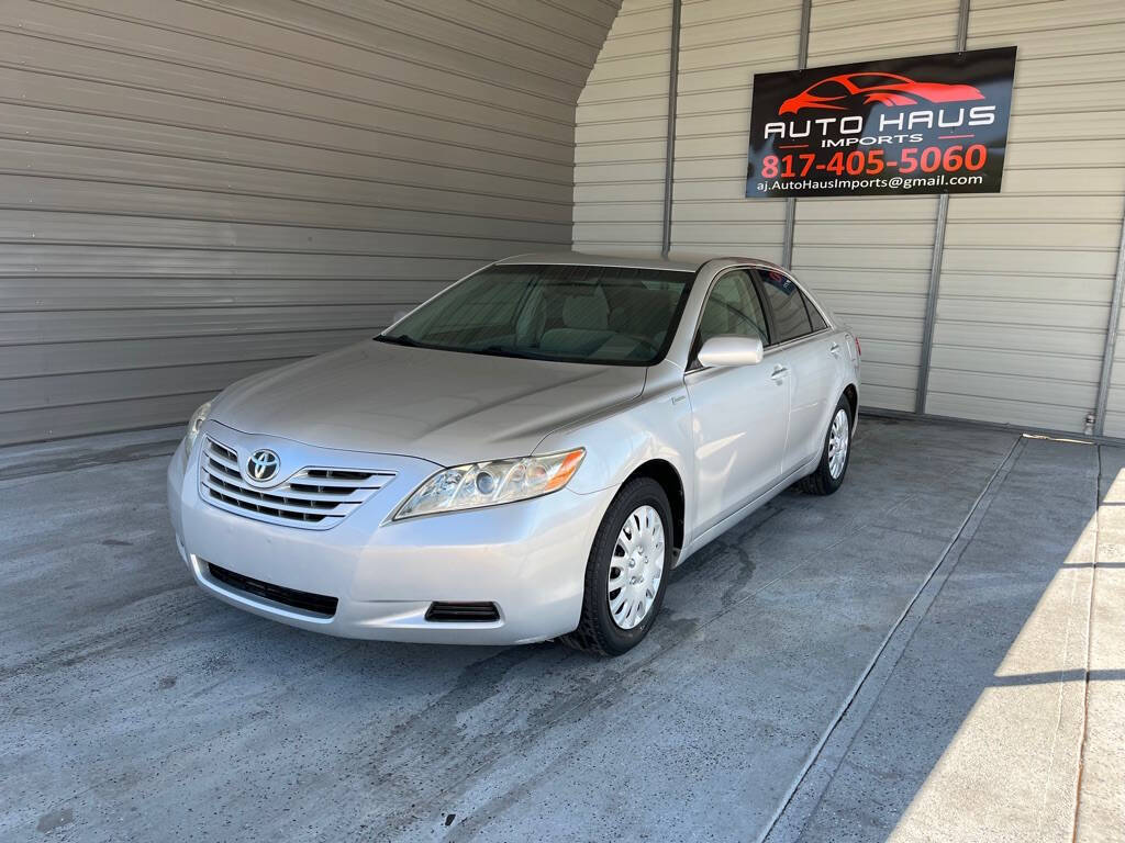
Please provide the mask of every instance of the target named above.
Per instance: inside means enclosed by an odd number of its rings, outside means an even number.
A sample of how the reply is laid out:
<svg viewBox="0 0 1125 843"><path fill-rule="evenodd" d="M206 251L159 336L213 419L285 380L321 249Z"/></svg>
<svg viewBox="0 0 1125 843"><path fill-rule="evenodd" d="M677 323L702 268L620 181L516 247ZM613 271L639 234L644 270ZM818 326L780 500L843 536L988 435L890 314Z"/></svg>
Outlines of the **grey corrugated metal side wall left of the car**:
<svg viewBox="0 0 1125 843"><path fill-rule="evenodd" d="M567 247L613 0L11 0L0 443L183 419Z"/></svg>

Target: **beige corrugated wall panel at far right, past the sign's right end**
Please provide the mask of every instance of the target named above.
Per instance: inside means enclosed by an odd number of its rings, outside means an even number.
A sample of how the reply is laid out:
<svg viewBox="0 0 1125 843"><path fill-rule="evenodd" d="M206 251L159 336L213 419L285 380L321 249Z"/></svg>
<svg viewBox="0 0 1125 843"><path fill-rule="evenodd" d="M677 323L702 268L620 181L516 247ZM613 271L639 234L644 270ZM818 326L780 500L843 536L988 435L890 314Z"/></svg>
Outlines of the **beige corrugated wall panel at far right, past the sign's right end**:
<svg viewBox="0 0 1125 843"><path fill-rule="evenodd" d="M1004 192L950 199L926 409L1081 430L1125 210L1125 3L975 0L969 47L1005 44Z"/></svg>

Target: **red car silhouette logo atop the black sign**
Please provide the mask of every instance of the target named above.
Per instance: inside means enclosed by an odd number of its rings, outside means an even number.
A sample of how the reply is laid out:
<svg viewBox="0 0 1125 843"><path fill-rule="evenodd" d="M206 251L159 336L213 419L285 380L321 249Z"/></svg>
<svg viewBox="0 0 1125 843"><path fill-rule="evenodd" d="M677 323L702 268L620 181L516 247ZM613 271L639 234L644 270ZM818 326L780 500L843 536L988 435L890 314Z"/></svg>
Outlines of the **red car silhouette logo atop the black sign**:
<svg viewBox="0 0 1125 843"><path fill-rule="evenodd" d="M972 85L915 82L896 73L844 73L822 79L781 103L778 115L795 115L802 108L849 111L856 106L917 106L921 102L982 100Z"/></svg>

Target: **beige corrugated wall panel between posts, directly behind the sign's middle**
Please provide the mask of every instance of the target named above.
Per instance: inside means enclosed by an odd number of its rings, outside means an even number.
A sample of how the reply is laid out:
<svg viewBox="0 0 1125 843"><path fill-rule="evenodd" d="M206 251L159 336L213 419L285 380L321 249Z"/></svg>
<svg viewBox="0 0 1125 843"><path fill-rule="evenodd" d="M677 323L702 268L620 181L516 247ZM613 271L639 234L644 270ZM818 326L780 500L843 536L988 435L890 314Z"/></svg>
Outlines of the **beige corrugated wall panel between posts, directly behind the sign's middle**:
<svg viewBox="0 0 1125 843"><path fill-rule="evenodd" d="M813 2L809 66L950 53L957 0ZM937 197L800 199L793 271L863 342L863 401L914 410Z"/></svg>

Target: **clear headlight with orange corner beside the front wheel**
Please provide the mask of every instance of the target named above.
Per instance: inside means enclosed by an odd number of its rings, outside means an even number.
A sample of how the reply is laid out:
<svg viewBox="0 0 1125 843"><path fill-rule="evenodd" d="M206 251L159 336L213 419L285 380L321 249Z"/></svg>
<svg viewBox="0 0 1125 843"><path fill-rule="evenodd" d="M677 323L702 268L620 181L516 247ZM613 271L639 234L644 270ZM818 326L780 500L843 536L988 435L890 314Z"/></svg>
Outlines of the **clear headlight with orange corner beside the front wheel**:
<svg viewBox="0 0 1125 843"><path fill-rule="evenodd" d="M511 504L558 491L574 477L585 448L547 456L493 460L444 469L414 490L395 520L416 515Z"/></svg>

